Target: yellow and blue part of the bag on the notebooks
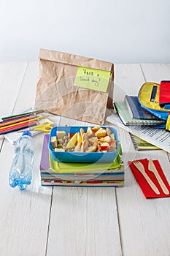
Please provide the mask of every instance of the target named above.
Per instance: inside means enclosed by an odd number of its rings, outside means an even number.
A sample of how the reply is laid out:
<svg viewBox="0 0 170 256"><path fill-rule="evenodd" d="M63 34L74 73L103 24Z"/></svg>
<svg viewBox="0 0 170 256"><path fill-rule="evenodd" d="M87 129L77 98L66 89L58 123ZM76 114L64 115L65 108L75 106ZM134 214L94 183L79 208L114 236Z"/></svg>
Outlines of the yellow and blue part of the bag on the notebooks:
<svg viewBox="0 0 170 256"><path fill-rule="evenodd" d="M158 83L144 83L139 90L138 100L139 104L144 108L147 112L152 113L152 115L166 120L166 129L169 129L170 118L169 112L170 108L167 109L167 106L163 105L161 108L160 106L160 84ZM168 121L167 121L168 120Z"/></svg>

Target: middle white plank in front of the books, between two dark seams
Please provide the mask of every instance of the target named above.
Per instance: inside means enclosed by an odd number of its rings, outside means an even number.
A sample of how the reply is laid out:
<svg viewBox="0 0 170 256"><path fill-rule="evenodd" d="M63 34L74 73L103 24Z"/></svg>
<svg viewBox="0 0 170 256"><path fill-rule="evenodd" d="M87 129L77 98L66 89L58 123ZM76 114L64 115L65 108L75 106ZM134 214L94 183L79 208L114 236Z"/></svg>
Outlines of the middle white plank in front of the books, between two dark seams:
<svg viewBox="0 0 170 256"><path fill-rule="evenodd" d="M47 255L122 255L115 188L54 187Z"/></svg>

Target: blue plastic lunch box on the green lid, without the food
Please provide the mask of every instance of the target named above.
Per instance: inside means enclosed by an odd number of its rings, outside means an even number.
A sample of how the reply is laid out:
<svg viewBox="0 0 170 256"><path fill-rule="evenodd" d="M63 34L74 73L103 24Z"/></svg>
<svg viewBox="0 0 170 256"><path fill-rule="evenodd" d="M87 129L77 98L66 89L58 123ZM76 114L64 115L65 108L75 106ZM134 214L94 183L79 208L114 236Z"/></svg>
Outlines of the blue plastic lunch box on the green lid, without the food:
<svg viewBox="0 0 170 256"><path fill-rule="evenodd" d="M50 155L53 161L58 162L113 162L118 154L118 137L116 129L109 127L111 131L115 134L116 146L117 149L114 152L59 152L53 151L52 145L50 143L51 137L56 136L57 131L65 131L66 135L68 133L76 133L80 132L80 128L83 128L85 132L88 127L53 127L50 132L50 140L48 143L48 148L50 151ZM107 127L101 127L107 128Z"/></svg>

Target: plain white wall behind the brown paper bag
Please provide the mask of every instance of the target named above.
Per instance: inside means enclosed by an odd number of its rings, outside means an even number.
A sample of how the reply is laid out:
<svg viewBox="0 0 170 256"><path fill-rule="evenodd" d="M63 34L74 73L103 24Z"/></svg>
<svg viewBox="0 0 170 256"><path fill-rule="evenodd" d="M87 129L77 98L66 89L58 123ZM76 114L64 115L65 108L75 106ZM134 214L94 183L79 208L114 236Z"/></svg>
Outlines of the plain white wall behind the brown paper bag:
<svg viewBox="0 0 170 256"><path fill-rule="evenodd" d="M170 1L0 0L0 61L34 61L39 48L170 63Z"/></svg>

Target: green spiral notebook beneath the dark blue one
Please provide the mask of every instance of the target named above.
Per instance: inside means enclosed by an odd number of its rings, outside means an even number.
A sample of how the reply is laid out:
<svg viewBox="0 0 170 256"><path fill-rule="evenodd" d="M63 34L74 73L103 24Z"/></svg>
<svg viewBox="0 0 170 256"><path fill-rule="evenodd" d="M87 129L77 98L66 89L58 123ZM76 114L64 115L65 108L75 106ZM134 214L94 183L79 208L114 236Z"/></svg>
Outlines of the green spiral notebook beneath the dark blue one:
<svg viewBox="0 0 170 256"><path fill-rule="evenodd" d="M115 109L117 111L118 116L120 117L123 124L126 126L129 125L161 125L165 124L164 120L155 120L155 119L139 119L139 118L132 118L130 113L128 112L128 108L125 105L125 102L115 102Z"/></svg>

